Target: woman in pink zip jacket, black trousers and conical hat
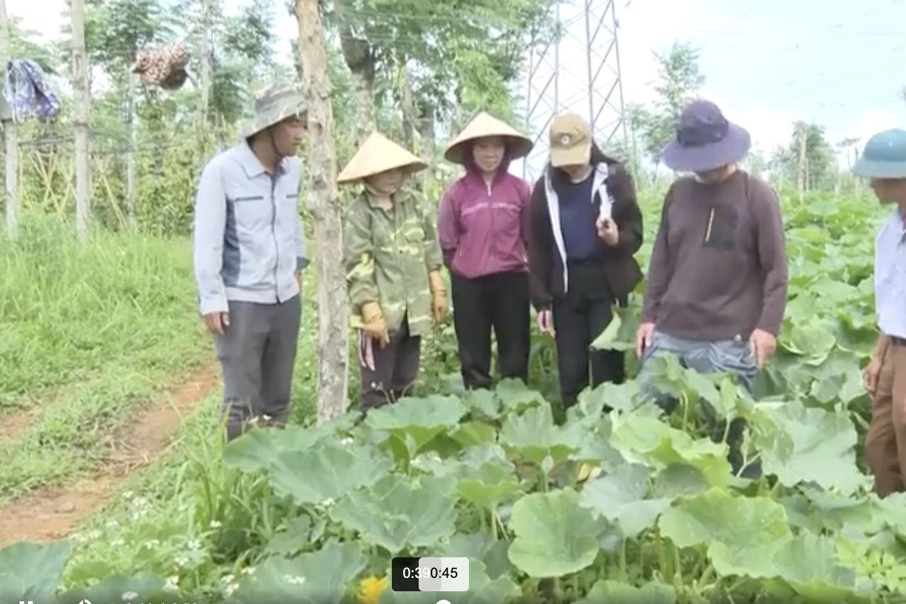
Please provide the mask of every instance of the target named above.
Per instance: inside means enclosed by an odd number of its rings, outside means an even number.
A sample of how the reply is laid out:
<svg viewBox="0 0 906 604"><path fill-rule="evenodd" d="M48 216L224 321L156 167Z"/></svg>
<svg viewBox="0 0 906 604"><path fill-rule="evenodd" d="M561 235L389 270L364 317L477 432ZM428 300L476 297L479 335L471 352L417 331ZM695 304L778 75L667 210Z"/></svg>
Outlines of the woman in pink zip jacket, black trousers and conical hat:
<svg viewBox="0 0 906 604"><path fill-rule="evenodd" d="M525 247L531 187L507 169L532 146L516 129L479 113L444 154L466 168L444 191L438 217L466 388L491 386L491 331L500 377L528 381L531 315Z"/></svg>

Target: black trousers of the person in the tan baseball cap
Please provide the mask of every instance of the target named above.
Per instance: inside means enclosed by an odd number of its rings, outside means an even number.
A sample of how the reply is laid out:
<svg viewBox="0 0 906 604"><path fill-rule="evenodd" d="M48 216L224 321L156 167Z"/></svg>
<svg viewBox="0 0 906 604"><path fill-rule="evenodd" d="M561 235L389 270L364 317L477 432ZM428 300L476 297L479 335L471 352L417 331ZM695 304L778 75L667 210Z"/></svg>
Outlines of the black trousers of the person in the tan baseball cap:
<svg viewBox="0 0 906 604"><path fill-rule="evenodd" d="M610 324L614 303L596 264L569 265L568 291L554 299L552 309L564 407L575 405L579 393L589 386L622 384L626 379L626 359L621 351L589 348Z"/></svg>

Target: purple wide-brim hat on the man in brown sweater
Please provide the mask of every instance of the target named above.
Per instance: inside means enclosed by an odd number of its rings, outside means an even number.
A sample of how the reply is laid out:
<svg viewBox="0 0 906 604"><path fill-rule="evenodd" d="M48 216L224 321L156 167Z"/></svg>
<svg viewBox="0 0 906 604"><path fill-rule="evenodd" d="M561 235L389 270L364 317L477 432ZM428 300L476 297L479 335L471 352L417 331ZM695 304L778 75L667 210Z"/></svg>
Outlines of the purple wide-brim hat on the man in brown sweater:
<svg viewBox="0 0 906 604"><path fill-rule="evenodd" d="M751 147L747 129L727 120L713 102L697 99L679 114L676 134L660 160L678 172L708 172L737 163Z"/></svg>

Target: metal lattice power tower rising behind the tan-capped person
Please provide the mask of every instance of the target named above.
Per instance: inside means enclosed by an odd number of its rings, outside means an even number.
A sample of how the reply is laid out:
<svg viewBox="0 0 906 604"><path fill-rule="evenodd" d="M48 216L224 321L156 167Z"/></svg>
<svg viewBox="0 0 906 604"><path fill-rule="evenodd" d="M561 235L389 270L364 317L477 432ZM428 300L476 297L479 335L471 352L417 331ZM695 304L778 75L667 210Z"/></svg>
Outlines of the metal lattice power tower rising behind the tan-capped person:
<svg viewBox="0 0 906 604"><path fill-rule="evenodd" d="M559 111L573 110L588 120L599 145L618 136L626 141L614 0L559 0L554 20L554 39L533 44L528 61L526 118L535 139L523 163L529 181L545 167L547 130Z"/></svg>

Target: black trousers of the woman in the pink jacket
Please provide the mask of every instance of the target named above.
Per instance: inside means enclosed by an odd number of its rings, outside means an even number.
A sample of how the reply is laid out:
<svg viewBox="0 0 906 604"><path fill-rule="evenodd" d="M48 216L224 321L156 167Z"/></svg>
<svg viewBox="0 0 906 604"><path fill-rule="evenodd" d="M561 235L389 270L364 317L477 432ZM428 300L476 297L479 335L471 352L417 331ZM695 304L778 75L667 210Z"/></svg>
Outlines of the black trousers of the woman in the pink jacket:
<svg viewBox="0 0 906 604"><path fill-rule="evenodd" d="M491 331L497 340L501 378L528 383L531 311L528 273L496 273L477 279L450 275L459 366L466 388L491 387Z"/></svg>

